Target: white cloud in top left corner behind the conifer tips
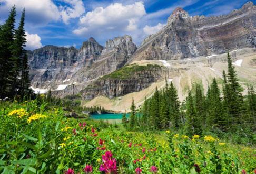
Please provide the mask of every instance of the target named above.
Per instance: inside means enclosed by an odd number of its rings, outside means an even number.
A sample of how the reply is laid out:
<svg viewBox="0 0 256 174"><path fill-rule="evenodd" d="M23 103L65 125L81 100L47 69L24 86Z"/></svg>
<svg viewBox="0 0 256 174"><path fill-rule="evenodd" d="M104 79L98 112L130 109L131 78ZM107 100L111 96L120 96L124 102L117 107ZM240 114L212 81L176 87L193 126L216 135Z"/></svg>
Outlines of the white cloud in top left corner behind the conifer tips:
<svg viewBox="0 0 256 174"><path fill-rule="evenodd" d="M26 9L26 21L31 23L48 23L60 18L58 7L51 0L0 0L0 14L7 15L9 9L15 5L17 12Z"/></svg>

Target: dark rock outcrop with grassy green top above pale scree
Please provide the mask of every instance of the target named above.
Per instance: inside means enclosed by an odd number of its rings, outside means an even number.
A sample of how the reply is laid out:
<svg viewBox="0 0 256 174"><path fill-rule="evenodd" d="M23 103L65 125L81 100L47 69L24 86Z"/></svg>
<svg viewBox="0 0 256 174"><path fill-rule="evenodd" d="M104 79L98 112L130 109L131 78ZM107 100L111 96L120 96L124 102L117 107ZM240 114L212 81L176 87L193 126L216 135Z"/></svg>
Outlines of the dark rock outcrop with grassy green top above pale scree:
<svg viewBox="0 0 256 174"><path fill-rule="evenodd" d="M83 90L83 99L91 100L96 96L113 99L131 92L141 91L153 82L162 79L166 69L157 65L125 66L109 75L99 78Z"/></svg>

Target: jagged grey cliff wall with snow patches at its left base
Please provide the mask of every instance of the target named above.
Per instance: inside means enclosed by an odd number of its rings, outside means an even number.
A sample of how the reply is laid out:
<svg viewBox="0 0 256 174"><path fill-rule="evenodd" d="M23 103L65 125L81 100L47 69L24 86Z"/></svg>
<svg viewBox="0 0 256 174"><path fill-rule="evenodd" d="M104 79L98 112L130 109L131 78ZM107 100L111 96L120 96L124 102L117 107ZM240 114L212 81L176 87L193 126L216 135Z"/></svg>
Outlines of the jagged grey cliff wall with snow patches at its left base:
<svg viewBox="0 0 256 174"><path fill-rule="evenodd" d="M105 47L90 38L79 50L45 46L29 51L32 86L34 89L51 88L55 93L70 88L72 93L77 93L87 81L123 67L136 49L132 38L125 35L108 40ZM71 84L81 85L74 88Z"/></svg>

